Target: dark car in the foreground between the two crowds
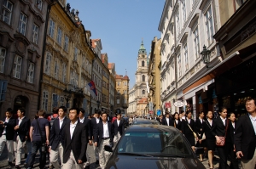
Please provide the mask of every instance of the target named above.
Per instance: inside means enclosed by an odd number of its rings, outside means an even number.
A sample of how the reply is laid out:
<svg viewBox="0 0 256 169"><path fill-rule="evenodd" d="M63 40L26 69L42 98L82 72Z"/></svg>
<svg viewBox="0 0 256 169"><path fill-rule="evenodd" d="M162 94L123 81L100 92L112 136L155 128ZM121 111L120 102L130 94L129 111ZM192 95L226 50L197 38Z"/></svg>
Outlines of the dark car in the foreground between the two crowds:
<svg viewBox="0 0 256 169"><path fill-rule="evenodd" d="M105 146L105 150L112 148ZM189 142L174 127L133 125L126 129L110 156L107 169L205 169Z"/></svg>

